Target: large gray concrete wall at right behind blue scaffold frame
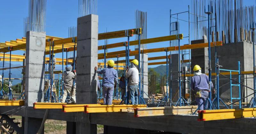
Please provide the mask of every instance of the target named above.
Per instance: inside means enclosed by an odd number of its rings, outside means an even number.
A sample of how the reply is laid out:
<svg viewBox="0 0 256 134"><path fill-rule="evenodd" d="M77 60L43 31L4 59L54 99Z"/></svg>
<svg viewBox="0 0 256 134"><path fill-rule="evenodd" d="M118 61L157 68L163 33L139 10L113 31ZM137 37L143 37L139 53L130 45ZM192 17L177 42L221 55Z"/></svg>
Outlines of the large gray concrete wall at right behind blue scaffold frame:
<svg viewBox="0 0 256 134"><path fill-rule="evenodd" d="M240 61L241 64L241 71L253 71L253 57L252 57L252 44L250 42L236 42L236 43L228 43L223 44L221 47L216 47L217 50L217 56L219 57L219 65L223 66L220 67L220 69L228 69L228 70L238 70L238 61ZM211 49L211 56L212 56L212 72L215 72L215 48L212 47ZM226 71L220 71L220 72L226 72ZM229 77L229 75L227 76ZM247 81L244 79L246 77L245 75L241 75L241 82L245 83L248 87L253 88L253 79L252 75L247 75ZM215 76L212 76L212 78L215 78ZM224 76L220 76L220 97L224 100L230 100L230 80L224 79ZM238 80L238 75L232 75L232 78L234 80ZM215 84L215 81L213 81ZM236 82L232 82L232 84L237 84ZM245 89L245 91L244 91ZM247 94L253 93L251 89L247 89L246 93L246 87L241 86L241 92L243 92L245 96ZM232 86L232 97L238 97L238 87ZM251 97L248 97L248 103L250 101ZM234 100L233 100L234 101ZM246 102L246 100L245 100Z"/></svg>

